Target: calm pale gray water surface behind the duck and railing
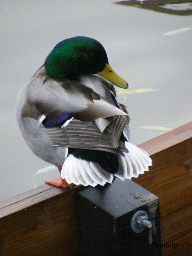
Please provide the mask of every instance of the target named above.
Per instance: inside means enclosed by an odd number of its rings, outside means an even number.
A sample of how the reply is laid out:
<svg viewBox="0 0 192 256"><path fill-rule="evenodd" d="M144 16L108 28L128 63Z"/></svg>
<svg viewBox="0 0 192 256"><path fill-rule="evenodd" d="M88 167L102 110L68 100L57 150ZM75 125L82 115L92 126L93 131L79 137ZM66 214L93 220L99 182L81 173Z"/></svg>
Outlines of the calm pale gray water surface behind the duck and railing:
<svg viewBox="0 0 192 256"><path fill-rule="evenodd" d="M82 35L100 41L112 68L128 82L131 93L119 94L118 100L130 114L132 143L191 120L191 16L110 0L6 0L0 1L0 12L0 200L58 176L52 167L35 174L50 164L27 147L16 124L14 104L22 86L65 38Z"/></svg>

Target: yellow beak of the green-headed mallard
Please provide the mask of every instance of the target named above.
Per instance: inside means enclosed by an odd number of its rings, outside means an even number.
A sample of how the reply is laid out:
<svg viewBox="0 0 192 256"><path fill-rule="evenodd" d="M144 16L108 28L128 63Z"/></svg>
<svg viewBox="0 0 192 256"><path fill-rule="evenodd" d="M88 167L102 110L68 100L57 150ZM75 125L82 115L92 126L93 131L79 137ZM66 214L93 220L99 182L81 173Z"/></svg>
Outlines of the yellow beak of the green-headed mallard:
<svg viewBox="0 0 192 256"><path fill-rule="evenodd" d="M111 82L112 84L120 88L124 88L124 89L128 88L128 83L123 78L121 78L116 72L114 72L112 67L107 63L104 70L102 70L101 72L98 72L97 74L104 77L109 82Z"/></svg>

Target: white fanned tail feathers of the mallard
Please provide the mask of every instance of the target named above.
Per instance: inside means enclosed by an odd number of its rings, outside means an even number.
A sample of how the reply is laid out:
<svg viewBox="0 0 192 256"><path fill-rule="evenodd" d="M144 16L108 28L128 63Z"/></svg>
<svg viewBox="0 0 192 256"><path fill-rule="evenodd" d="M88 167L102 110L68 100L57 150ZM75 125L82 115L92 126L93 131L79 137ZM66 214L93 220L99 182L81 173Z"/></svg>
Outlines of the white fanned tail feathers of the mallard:
<svg viewBox="0 0 192 256"><path fill-rule="evenodd" d="M121 180L137 178L139 174L149 170L152 160L141 148L130 142L125 142L125 145L129 152L124 153L124 157L118 156L119 170L114 175L103 170L98 163L78 159L70 154L63 164L61 177L68 183L93 187L112 183L114 176Z"/></svg>

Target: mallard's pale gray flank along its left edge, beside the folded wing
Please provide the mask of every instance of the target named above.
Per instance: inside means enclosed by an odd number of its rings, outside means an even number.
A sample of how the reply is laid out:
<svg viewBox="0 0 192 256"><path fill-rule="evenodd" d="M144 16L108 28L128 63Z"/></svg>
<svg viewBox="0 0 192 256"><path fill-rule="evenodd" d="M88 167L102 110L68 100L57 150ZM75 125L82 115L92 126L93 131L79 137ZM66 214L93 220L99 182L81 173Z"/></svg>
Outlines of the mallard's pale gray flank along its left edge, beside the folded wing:
<svg viewBox="0 0 192 256"><path fill-rule="evenodd" d="M40 68L20 91L16 100L16 119L30 150L42 160L59 166L65 160L66 148L52 146L52 142L44 132L44 126L39 119L42 115L41 111L34 104L29 104L28 89L33 86L34 78L39 78L39 85L41 86L41 82L43 83L46 79L44 67Z"/></svg>

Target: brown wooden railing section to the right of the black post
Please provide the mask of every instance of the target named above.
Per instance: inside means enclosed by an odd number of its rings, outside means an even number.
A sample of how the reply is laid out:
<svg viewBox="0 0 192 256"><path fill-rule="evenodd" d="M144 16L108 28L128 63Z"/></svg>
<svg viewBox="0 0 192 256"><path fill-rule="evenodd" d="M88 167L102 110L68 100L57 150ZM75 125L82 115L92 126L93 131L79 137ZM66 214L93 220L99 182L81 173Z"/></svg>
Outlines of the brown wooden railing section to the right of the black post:
<svg viewBox="0 0 192 256"><path fill-rule="evenodd" d="M135 182L160 199L164 256L192 252L192 122L140 145L150 153L153 166Z"/></svg>

